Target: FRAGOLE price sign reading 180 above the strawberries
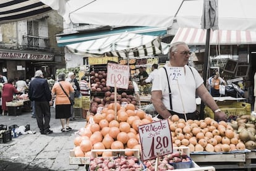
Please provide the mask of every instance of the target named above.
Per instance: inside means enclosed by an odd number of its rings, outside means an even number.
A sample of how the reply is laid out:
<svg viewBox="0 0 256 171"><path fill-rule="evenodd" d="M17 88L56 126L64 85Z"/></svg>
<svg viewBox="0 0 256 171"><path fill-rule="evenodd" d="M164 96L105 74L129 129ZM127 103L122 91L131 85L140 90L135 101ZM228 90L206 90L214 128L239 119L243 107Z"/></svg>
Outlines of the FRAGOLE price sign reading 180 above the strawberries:
<svg viewBox="0 0 256 171"><path fill-rule="evenodd" d="M142 144L142 161L155 159L173 152L168 119L147 123L138 127Z"/></svg>

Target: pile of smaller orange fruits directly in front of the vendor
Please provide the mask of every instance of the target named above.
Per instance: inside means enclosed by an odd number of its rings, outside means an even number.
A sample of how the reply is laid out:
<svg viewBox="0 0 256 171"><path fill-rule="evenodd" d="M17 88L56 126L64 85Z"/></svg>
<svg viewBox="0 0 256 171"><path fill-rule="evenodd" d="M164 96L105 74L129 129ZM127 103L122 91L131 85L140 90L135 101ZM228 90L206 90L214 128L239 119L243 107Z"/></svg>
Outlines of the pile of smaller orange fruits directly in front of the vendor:
<svg viewBox="0 0 256 171"><path fill-rule="evenodd" d="M228 152L245 149L239 135L227 122L216 122L210 117L204 120L179 119L173 115L169 120L173 146L188 146L190 152Z"/></svg>

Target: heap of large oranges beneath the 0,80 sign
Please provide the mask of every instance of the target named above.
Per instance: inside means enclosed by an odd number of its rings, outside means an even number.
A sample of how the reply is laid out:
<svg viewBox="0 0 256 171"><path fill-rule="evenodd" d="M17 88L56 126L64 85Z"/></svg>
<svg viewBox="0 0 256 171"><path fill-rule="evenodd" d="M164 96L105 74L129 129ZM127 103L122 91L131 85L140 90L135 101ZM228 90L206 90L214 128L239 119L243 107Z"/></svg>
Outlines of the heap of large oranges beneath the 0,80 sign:
<svg viewBox="0 0 256 171"><path fill-rule="evenodd" d="M117 114L115 114L115 106ZM90 156L91 149L141 149L138 126L152 122L151 115L142 110L135 110L134 104L122 107L111 103L103 108L101 114L91 115L95 123L88 123L82 133L74 140L75 156ZM90 118L88 118L90 120ZM99 152L109 156L109 152ZM132 152L126 152L132 156Z"/></svg>

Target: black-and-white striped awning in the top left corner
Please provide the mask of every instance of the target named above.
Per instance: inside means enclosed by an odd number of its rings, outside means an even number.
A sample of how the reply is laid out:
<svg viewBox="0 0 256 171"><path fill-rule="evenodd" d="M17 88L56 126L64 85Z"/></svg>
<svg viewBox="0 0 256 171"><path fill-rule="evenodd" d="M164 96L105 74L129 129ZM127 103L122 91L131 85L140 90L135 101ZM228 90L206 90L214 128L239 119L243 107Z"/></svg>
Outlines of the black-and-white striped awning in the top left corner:
<svg viewBox="0 0 256 171"><path fill-rule="evenodd" d="M15 22L49 12L51 7L39 0L1 0L0 23Z"/></svg>

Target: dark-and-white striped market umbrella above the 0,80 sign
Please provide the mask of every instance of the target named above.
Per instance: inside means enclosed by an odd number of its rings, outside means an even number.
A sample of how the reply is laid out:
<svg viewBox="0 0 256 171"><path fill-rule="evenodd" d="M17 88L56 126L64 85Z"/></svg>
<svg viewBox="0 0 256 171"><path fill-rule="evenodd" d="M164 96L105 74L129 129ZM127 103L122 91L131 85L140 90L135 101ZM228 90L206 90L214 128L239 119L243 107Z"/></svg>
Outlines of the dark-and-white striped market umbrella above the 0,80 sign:
<svg viewBox="0 0 256 171"><path fill-rule="evenodd" d="M158 36L122 33L97 40L68 44L67 51L88 56L142 57L161 54L162 44Z"/></svg>

